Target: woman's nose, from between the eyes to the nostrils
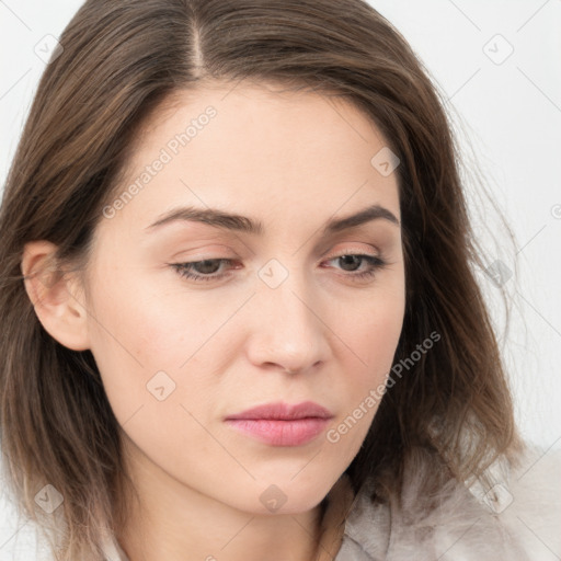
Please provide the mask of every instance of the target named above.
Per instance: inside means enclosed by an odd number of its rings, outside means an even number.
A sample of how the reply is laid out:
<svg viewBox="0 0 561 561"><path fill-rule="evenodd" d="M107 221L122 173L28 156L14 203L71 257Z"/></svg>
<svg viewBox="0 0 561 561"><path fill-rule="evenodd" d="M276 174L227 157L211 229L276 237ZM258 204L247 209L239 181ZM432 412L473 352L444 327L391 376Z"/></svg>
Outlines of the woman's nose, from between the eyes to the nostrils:
<svg viewBox="0 0 561 561"><path fill-rule="evenodd" d="M329 358L330 330L321 320L318 291L290 272L276 288L257 283L252 298L248 355L261 368L296 374Z"/></svg>

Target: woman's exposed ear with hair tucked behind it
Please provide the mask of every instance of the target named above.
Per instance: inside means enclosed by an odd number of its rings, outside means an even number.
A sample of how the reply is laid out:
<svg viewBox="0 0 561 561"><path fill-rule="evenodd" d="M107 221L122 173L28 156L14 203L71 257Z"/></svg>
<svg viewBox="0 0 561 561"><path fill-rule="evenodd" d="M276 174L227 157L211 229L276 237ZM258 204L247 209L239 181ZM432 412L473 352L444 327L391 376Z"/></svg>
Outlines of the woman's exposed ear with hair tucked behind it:
<svg viewBox="0 0 561 561"><path fill-rule="evenodd" d="M23 249L21 271L38 320L56 341L73 351L90 348L83 287L78 277L55 265L57 247L32 241Z"/></svg>

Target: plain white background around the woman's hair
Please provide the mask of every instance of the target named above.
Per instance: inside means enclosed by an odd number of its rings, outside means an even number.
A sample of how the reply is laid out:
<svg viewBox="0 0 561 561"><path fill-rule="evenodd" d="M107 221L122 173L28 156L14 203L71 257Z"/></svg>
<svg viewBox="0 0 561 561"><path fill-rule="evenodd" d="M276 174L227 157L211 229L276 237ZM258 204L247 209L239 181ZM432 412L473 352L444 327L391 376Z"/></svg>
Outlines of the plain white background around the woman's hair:
<svg viewBox="0 0 561 561"><path fill-rule="evenodd" d="M410 42L449 100L453 118L461 122L461 146L477 159L470 165L481 170L514 230L515 248L501 237L490 245L508 268L515 270L514 260L519 267L505 283L513 316L504 340L497 289L486 275L480 278L504 348L522 432L545 450L560 448L561 0L370 3ZM48 34L58 36L80 4L0 0L2 185L45 68L35 46ZM472 207L499 236L492 209ZM484 230L481 234L486 239ZM30 559L27 528L21 529L5 502L0 513L0 561Z"/></svg>

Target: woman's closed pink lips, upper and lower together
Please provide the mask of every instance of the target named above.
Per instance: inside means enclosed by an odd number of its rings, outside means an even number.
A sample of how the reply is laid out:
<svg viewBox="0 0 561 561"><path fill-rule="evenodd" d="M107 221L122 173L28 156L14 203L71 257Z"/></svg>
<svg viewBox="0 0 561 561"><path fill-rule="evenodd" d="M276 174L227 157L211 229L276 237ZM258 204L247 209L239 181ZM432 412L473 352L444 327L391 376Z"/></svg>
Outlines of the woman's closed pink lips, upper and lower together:
<svg viewBox="0 0 561 561"><path fill-rule="evenodd" d="M272 446L299 446L322 433L333 414L313 401L266 403L228 415L225 422Z"/></svg>

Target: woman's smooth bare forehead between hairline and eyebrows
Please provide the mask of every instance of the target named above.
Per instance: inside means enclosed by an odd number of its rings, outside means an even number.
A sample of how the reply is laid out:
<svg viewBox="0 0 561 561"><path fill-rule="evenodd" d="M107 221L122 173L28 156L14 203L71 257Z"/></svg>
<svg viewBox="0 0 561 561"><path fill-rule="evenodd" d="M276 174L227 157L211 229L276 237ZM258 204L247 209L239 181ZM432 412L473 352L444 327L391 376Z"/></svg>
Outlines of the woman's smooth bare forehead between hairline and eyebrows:
<svg viewBox="0 0 561 561"><path fill-rule="evenodd" d="M328 93L265 84L175 92L135 138L118 187L137 188L119 217L144 227L183 204L311 222L375 203L399 217L397 174L371 162L386 147L365 113Z"/></svg>

